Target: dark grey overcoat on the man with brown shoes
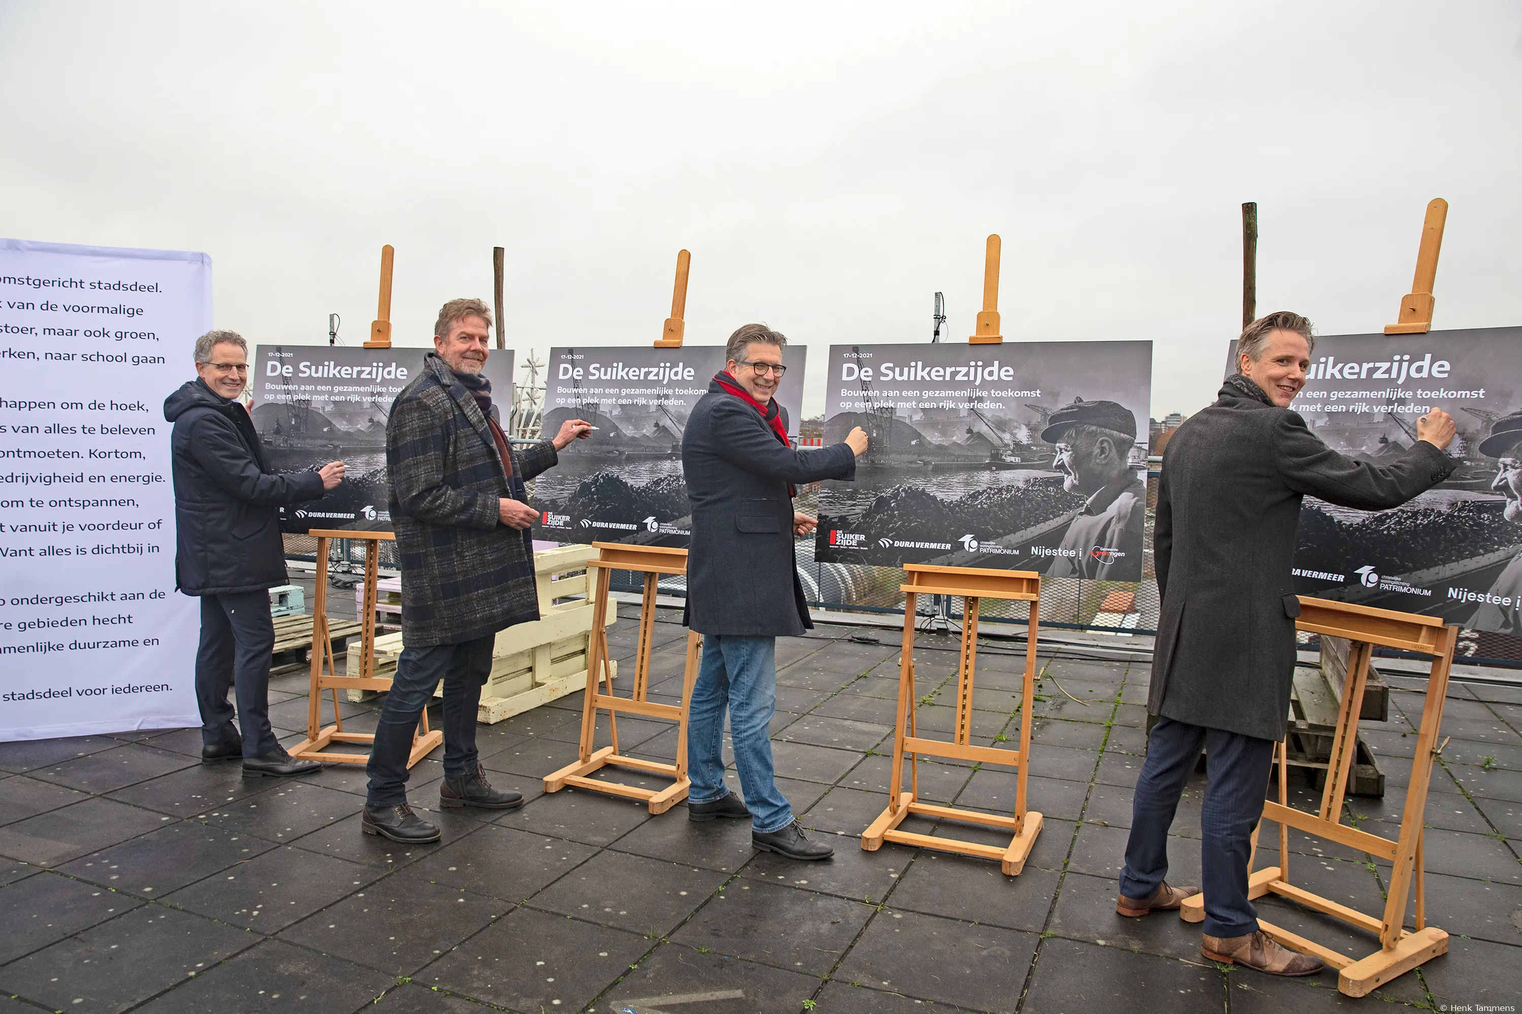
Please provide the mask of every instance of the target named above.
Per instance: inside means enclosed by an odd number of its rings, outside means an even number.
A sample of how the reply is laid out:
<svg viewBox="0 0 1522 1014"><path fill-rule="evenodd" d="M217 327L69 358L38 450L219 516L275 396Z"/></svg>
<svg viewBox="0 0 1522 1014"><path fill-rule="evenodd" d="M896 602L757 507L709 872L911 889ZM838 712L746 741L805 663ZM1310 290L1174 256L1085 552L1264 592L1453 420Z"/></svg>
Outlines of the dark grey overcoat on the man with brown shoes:
<svg viewBox="0 0 1522 1014"><path fill-rule="evenodd" d="M1152 545L1163 597L1148 711L1263 740L1285 735L1295 671L1291 563L1300 501L1382 510L1457 461L1417 442L1387 466L1327 448L1245 378L1163 452Z"/></svg>

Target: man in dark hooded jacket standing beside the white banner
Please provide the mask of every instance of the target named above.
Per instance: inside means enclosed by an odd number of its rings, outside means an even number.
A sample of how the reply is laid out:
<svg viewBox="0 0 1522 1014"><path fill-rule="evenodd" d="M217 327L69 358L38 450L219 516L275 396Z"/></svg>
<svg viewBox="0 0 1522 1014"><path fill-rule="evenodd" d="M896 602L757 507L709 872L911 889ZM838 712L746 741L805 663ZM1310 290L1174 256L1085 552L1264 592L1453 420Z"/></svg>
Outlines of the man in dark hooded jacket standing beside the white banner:
<svg viewBox="0 0 1522 1014"><path fill-rule="evenodd" d="M195 696L201 758L244 758L245 775L285 778L318 770L292 758L269 728L269 656L275 644L269 589L285 585L282 504L317 499L344 478L344 463L275 475L237 396L248 382L248 343L212 330L195 343L198 379L164 399L175 425L175 585L201 598ZM236 673L236 679L234 679ZM237 725L227 702L237 688Z"/></svg>

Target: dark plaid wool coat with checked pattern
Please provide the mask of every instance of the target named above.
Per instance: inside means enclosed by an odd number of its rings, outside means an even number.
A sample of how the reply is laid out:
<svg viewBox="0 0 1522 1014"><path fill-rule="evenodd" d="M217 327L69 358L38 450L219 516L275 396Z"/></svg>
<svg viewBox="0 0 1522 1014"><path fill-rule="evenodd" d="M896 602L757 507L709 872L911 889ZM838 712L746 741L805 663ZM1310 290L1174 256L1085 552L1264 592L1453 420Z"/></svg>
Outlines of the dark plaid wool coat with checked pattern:
<svg viewBox="0 0 1522 1014"><path fill-rule="evenodd" d="M498 499L527 504L524 483L559 455L548 440L508 454L511 480L470 391L429 353L385 428L408 647L460 644L539 620L533 536L499 521Z"/></svg>

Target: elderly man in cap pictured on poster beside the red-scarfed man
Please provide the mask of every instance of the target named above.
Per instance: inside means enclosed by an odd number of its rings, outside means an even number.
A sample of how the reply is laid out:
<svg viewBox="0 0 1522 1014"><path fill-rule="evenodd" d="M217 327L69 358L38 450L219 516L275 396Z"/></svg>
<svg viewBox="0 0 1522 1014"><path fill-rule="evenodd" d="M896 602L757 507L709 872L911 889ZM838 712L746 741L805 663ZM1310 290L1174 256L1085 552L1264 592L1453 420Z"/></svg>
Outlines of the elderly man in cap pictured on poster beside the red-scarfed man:
<svg viewBox="0 0 1522 1014"><path fill-rule="evenodd" d="M1131 464L1135 416L1116 402L1073 399L1052 413L1041 438L1056 445L1052 466L1062 472L1062 489L1088 496L1047 577L1134 580L1146 521L1146 483Z"/></svg>

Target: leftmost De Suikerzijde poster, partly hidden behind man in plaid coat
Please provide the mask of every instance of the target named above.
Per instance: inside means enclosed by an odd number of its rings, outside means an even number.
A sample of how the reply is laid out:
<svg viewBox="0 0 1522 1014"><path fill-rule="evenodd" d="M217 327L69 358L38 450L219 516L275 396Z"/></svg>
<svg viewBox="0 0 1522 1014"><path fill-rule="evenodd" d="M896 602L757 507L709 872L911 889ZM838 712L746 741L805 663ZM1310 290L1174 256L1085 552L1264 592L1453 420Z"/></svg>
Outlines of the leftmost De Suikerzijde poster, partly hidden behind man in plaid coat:
<svg viewBox="0 0 1522 1014"><path fill-rule="evenodd" d="M342 461L344 481L321 499L280 509L280 530L390 531L385 422L391 402L432 349L259 346L248 384L254 428L275 472ZM505 425L513 407L513 350L492 349L482 373Z"/></svg>

